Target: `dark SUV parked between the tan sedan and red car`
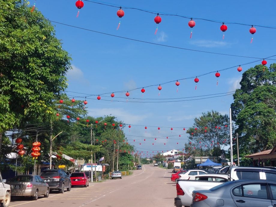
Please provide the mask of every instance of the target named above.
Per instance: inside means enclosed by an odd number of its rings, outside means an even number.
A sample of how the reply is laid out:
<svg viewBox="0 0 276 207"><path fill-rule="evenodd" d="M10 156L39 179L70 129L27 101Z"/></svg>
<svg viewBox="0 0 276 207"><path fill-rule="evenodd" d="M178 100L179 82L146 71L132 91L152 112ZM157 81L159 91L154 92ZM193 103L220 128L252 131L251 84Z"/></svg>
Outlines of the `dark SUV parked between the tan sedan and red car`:
<svg viewBox="0 0 276 207"><path fill-rule="evenodd" d="M56 170L44 170L40 177L47 182L51 190L59 190L60 193L64 193L64 188L67 191L71 190L71 179L69 175L62 169Z"/></svg>

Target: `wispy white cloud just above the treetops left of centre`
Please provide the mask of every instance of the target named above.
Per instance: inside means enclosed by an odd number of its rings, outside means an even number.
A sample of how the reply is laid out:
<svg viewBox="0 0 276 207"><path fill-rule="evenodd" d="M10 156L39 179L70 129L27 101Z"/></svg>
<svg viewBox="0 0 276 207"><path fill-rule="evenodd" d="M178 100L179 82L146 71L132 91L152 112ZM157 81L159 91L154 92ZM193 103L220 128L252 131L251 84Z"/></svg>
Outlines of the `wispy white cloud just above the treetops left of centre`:
<svg viewBox="0 0 276 207"><path fill-rule="evenodd" d="M120 108L98 108L98 109L89 109L89 114L93 117L112 115L115 116L118 120L122 120L127 124L140 124L141 121L146 119L147 115L135 115L127 112L125 109Z"/></svg>

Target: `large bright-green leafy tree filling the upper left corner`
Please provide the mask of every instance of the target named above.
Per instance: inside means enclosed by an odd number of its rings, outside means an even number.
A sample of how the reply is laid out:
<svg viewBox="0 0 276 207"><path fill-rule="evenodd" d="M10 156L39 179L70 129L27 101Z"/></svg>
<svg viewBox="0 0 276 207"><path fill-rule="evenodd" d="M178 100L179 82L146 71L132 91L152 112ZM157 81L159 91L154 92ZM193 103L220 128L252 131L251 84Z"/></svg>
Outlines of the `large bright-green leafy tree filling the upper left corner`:
<svg viewBox="0 0 276 207"><path fill-rule="evenodd" d="M54 27L25 0L0 1L0 147L2 134L54 112L67 87L70 57Z"/></svg>

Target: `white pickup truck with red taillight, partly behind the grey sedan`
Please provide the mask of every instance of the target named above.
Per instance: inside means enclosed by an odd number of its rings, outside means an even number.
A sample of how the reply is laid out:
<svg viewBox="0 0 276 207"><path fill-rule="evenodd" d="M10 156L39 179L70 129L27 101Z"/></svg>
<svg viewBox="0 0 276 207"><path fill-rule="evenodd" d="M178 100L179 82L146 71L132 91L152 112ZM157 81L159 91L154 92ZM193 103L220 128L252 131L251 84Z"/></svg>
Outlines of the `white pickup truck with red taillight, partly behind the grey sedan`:
<svg viewBox="0 0 276 207"><path fill-rule="evenodd" d="M228 174L206 174L205 176L216 175L223 177L228 181L239 179L264 179L276 181L276 168L274 167L229 167ZM202 175L198 175L202 176ZM210 179L208 179L210 180ZM195 179L195 180L178 180L176 184L177 197L174 199L176 207L189 207L192 204L193 190L209 190L226 180L212 179L212 181Z"/></svg>

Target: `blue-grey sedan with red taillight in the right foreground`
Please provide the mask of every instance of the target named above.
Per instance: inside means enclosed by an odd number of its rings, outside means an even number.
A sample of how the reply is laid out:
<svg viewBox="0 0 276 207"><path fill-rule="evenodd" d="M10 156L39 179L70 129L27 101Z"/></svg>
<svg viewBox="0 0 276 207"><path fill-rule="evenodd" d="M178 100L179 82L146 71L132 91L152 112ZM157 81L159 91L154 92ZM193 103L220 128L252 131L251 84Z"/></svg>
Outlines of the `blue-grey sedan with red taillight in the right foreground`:
<svg viewBox="0 0 276 207"><path fill-rule="evenodd" d="M276 182L268 180L235 180L194 190L191 207L251 207L275 206Z"/></svg>

